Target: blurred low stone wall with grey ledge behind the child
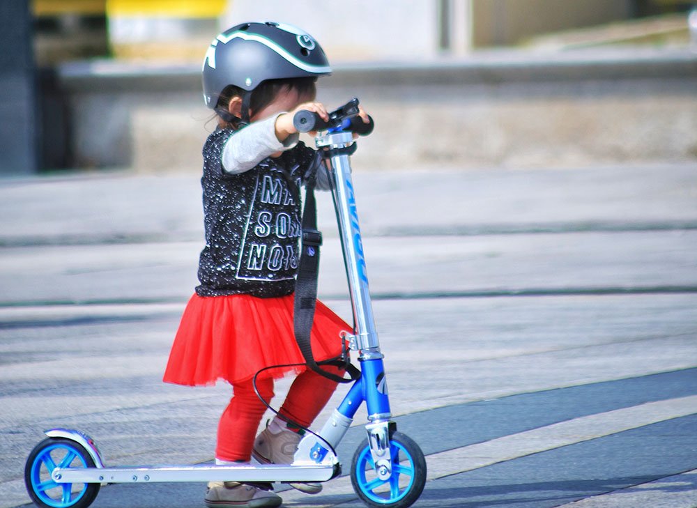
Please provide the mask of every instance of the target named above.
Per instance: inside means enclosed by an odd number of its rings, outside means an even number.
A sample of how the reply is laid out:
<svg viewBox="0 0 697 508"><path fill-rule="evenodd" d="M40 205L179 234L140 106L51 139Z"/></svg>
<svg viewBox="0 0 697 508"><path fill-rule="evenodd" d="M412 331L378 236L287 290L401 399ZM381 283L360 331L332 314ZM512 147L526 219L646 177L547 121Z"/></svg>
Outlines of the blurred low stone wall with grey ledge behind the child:
<svg viewBox="0 0 697 508"><path fill-rule="evenodd" d="M63 71L77 165L200 171L200 66ZM625 49L337 66L318 98L374 116L357 168L549 168L695 162L696 90L697 54Z"/></svg>

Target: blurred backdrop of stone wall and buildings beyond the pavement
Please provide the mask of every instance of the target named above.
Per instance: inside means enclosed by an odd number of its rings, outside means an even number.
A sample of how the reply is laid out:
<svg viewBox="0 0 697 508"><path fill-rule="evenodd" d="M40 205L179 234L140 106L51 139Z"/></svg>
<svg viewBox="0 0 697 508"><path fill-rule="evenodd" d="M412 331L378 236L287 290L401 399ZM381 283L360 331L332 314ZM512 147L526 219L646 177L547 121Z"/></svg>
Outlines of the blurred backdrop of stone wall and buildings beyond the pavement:
<svg viewBox="0 0 697 508"><path fill-rule="evenodd" d="M199 171L202 57L247 20L307 30L319 98L389 125L357 167L697 160L690 1L3 0L0 175Z"/></svg>

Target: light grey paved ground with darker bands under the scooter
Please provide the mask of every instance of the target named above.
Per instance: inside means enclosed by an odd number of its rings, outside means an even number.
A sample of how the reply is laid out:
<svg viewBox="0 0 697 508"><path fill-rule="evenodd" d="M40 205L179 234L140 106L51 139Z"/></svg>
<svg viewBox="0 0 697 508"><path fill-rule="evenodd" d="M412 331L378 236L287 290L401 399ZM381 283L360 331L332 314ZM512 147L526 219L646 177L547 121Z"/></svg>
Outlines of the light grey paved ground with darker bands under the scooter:
<svg viewBox="0 0 697 508"><path fill-rule="evenodd" d="M213 458L229 387L161 383L196 284L198 179L0 180L0 508L29 502L24 461L53 426L112 465ZM361 167L354 183L392 410L427 456L415 506L697 507L697 164ZM321 298L349 318L327 196L319 214ZM361 506L346 476L278 490ZM114 485L93 506L202 494Z"/></svg>

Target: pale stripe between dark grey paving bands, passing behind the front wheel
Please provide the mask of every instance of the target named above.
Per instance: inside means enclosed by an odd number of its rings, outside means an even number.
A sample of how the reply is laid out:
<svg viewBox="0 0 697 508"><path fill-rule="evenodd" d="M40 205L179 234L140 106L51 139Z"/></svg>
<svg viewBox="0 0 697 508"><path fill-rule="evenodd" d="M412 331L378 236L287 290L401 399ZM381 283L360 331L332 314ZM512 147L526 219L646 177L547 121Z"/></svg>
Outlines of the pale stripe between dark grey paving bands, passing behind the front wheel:
<svg viewBox="0 0 697 508"><path fill-rule="evenodd" d="M575 445L638 427L673 420L696 413L697 395L647 402L638 406L598 413L565 422L558 422L537 429L523 431L503 438L480 442L426 457L427 480L434 480L461 472L484 468L500 462L546 452L551 449ZM347 469L344 468L344 472ZM324 484L322 495L353 494L348 476ZM284 504L304 505L310 501L306 494L296 491L282 493ZM319 499L317 501L320 501ZM312 507L332 507L344 502L309 502Z"/></svg>

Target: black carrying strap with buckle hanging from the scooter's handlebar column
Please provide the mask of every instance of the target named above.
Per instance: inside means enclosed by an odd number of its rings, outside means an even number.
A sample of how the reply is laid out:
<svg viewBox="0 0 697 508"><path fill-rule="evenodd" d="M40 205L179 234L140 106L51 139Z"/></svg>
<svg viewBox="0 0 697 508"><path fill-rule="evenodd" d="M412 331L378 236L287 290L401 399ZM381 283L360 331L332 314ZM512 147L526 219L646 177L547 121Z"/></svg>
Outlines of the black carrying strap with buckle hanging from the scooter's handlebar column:
<svg viewBox="0 0 697 508"><path fill-rule="evenodd" d="M317 169L322 164L321 153L317 153L312 166L307 172L305 184L305 208L302 210L302 244L296 292L293 306L293 328L296 341L307 366L317 374L337 383L350 383L355 379L356 369L347 369L351 378L343 378L321 369L312 355L310 332L314 321L314 309L317 302L317 277L319 275L319 247L322 245L322 233L317 230L317 206L314 198ZM321 362L329 364L328 362ZM343 362L346 364L346 362ZM360 376L360 372L358 373Z"/></svg>

